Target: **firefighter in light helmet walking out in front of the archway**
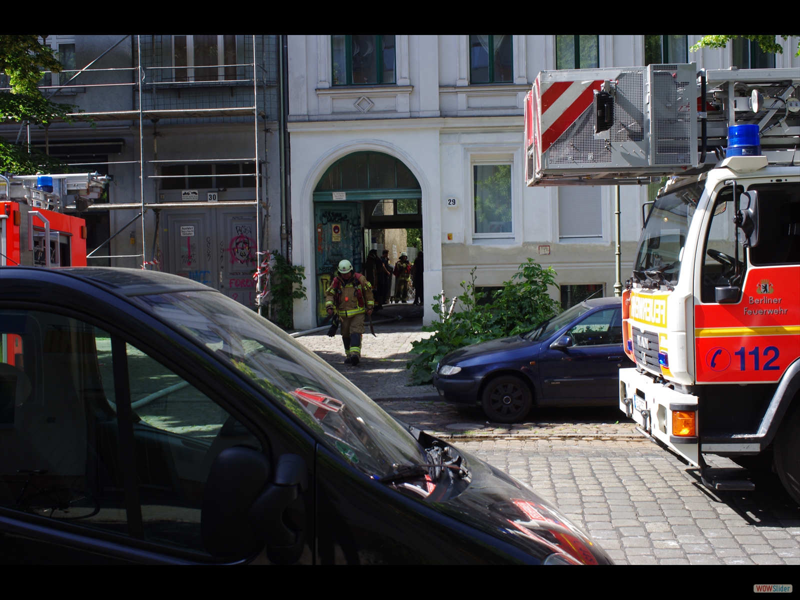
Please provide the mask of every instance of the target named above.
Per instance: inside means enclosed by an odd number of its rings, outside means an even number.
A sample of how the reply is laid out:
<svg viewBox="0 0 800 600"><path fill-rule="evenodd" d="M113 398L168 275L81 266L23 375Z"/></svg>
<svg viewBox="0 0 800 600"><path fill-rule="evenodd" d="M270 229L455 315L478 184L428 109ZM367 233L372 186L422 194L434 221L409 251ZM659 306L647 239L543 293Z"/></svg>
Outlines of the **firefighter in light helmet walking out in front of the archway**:
<svg viewBox="0 0 800 600"><path fill-rule="evenodd" d="M364 334L364 314L372 314L372 286L360 273L354 273L350 261L339 262L339 269L325 293L325 309L337 314L342 322L342 342L345 364L358 365L361 359L361 338Z"/></svg>

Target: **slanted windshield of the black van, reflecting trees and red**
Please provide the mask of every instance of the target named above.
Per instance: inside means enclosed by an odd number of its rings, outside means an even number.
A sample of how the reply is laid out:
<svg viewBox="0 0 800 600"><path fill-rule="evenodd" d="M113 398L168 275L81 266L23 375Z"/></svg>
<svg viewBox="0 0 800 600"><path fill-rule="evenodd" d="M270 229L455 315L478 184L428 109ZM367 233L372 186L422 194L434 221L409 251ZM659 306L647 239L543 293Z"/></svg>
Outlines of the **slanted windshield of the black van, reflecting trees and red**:
<svg viewBox="0 0 800 600"><path fill-rule="evenodd" d="M380 478L427 462L411 434L361 390L238 302L213 291L130 299L234 366L364 473Z"/></svg>

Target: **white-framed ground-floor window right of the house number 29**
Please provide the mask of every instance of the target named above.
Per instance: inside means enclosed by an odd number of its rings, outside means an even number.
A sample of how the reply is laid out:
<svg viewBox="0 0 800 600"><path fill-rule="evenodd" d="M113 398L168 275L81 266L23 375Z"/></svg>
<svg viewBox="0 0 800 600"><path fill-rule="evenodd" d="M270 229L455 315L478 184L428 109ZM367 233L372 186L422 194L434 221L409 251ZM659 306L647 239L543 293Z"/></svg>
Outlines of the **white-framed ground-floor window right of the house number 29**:
<svg viewBox="0 0 800 600"><path fill-rule="evenodd" d="M474 235L509 237L511 223L511 165L473 165Z"/></svg>

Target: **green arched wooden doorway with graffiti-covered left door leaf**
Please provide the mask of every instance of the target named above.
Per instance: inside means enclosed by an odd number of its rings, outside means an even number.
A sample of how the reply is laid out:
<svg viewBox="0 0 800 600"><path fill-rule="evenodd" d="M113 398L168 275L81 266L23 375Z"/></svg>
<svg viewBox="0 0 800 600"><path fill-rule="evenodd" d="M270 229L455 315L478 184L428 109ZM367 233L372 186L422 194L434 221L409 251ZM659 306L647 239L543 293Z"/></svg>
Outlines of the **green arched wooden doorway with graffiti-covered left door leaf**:
<svg viewBox="0 0 800 600"><path fill-rule="evenodd" d="M355 270L361 270L366 253L374 246L372 232L422 230L421 204L417 178L389 154L354 152L326 170L314 189L318 323L327 316L325 290L339 261L346 258Z"/></svg>

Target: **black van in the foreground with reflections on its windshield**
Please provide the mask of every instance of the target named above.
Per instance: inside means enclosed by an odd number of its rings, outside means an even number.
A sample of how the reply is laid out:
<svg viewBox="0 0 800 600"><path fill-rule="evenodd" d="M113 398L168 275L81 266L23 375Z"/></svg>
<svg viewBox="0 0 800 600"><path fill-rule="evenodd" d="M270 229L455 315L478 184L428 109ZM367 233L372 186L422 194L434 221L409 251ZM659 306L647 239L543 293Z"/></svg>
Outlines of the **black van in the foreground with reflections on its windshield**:
<svg viewBox="0 0 800 600"><path fill-rule="evenodd" d="M0 268L0 562L606 564L218 291Z"/></svg>

